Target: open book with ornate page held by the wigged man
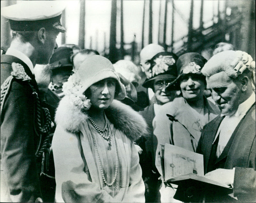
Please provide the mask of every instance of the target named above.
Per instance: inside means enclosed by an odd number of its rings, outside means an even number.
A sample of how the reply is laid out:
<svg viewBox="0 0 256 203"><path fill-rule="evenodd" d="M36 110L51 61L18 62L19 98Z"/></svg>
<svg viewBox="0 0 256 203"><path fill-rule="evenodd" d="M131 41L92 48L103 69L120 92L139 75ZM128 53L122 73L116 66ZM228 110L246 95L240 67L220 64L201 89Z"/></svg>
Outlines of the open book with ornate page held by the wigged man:
<svg viewBox="0 0 256 203"><path fill-rule="evenodd" d="M204 158L202 154L170 144L161 146L160 154L164 157L161 157L161 164L164 180L167 184L193 185L197 188L211 185L211 191L233 192L228 185L204 177Z"/></svg>

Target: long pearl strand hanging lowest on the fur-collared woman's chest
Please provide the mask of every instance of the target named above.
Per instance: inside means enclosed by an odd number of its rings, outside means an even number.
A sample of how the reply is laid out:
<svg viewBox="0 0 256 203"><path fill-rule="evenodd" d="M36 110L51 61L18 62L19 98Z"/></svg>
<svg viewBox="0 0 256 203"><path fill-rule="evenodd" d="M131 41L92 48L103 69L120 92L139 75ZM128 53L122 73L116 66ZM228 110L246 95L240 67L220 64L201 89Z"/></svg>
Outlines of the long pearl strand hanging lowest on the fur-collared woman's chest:
<svg viewBox="0 0 256 203"><path fill-rule="evenodd" d="M111 183L108 183L107 180L106 180L106 177L105 177L105 175L104 175L104 169L103 169L103 166L102 166L102 162L101 162L101 160L100 160L100 154L99 154L98 147L97 147L97 144L96 144L96 141L95 141L95 137L94 137L94 135L93 135L92 128L91 128L91 126L90 126L88 120L87 120L87 124L88 124L89 130L90 130L90 132L91 132L91 134L92 134L93 144L94 144L94 147L95 147L95 151L96 151L96 153L97 153L97 158L98 158L99 163L100 163L100 173L101 173L101 177L102 177L104 183L105 183L108 187L110 187L110 186L112 186L112 185L115 183L115 181L116 181L117 169L118 169L118 165L119 165L119 164L118 164L118 150L117 150L117 144L116 144L116 137L113 135L112 129L110 128L111 135L114 137L113 140L114 140L114 145L115 145L115 149L116 149L116 164L115 164L115 175L114 175L114 178L113 178L113 180L112 180ZM108 123L108 124L109 124L109 123ZM108 141L108 143L109 143L109 142L110 142L110 140Z"/></svg>

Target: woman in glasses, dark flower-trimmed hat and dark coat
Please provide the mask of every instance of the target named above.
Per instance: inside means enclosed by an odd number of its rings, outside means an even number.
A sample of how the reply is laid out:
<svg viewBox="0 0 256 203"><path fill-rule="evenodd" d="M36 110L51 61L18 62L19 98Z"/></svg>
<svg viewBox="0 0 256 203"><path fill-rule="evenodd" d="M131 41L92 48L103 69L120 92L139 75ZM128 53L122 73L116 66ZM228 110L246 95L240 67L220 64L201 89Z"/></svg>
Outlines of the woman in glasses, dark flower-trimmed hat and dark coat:
<svg viewBox="0 0 256 203"><path fill-rule="evenodd" d="M167 93L166 86L177 78L177 59L178 57L171 52L160 52L153 56L150 60L151 77L146 79L142 85L153 89L155 93L151 99L151 104L140 111L148 124L149 134L137 140L138 145L143 149L140 155L140 165L142 167L142 177L147 186L146 202L160 202L159 186L161 180L158 180L160 175L155 167L157 140L153 134L152 121L159 108L163 104L172 101L176 96L176 91Z"/></svg>

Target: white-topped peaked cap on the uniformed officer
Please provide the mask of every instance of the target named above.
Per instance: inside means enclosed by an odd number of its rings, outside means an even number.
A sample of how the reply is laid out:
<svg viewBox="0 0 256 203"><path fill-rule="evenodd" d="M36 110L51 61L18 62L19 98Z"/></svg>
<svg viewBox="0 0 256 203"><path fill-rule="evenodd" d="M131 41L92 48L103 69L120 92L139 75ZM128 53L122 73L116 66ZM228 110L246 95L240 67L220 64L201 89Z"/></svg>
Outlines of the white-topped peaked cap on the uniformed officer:
<svg viewBox="0 0 256 203"><path fill-rule="evenodd" d="M63 1L20 1L1 8L1 15L10 22L13 31L36 31L42 27L49 27L66 32L60 24L62 11L65 9Z"/></svg>

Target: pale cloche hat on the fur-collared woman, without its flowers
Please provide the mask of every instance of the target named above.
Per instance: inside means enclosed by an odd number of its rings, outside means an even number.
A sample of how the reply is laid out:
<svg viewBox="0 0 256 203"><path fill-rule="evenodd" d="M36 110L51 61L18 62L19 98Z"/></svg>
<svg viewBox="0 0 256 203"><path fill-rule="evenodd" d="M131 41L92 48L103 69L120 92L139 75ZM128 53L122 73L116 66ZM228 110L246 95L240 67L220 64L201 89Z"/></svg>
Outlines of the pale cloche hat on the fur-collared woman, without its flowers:
<svg viewBox="0 0 256 203"><path fill-rule="evenodd" d="M105 57L94 55L88 57L77 71L77 75L81 81L81 91L84 92L92 84L106 79L116 79L116 93L115 99L123 100L125 97L124 86L120 81L118 74L116 73L113 64Z"/></svg>

